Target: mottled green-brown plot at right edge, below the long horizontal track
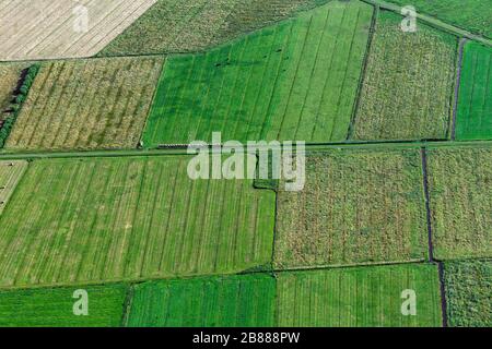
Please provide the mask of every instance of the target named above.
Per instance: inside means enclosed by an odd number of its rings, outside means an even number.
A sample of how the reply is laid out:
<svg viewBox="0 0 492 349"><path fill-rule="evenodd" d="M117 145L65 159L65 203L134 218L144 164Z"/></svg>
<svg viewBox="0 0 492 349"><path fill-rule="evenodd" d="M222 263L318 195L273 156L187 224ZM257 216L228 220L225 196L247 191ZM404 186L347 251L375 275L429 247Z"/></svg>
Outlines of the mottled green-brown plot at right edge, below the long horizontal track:
<svg viewBox="0 0 492 349"><path fill-rule="evenodd" d="M492 148L429 149L434 255L492 256Z"/></svg>

